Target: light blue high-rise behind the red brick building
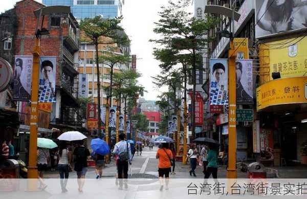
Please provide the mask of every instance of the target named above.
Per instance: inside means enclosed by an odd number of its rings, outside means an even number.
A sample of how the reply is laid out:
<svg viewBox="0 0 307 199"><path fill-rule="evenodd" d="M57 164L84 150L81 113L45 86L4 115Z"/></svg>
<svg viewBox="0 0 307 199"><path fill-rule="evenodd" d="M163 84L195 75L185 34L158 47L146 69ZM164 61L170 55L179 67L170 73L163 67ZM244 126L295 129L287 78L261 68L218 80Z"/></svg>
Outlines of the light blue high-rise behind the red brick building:
<svg viewBox="0 0 307 199"><path fill-rule="evenodd" d="M70 6L77 20L102 15L104 18L114 18L122 15L124 0L42 0L47 6Z"/></svg>

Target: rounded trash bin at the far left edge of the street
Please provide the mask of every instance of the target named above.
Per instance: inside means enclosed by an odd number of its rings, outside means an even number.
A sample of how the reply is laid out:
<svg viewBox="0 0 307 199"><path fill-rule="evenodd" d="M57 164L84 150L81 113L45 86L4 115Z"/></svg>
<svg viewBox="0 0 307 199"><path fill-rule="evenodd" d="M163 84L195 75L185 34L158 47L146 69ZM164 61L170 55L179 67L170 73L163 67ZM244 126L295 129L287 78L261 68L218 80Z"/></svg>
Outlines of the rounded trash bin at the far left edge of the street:
<svg viewBox="0 0 307 199"><path fill-rule="evenodd" d="M9 159L0 165L0 191L19 190L19 164Z"/></svg>

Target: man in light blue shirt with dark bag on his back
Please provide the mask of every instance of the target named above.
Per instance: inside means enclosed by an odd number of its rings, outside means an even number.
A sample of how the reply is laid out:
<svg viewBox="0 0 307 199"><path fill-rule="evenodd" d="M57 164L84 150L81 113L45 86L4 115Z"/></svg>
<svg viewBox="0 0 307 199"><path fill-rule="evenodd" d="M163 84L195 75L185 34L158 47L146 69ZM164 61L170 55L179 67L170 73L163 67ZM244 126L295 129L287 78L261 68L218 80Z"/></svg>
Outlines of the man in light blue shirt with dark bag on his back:
<svg viewBox="0 0 307 199"><path fill-rule="evenodd" d="M119 139L120 141L116 143L113 153L118 155L117 172L119 179L119 189L122 190L123 178L125 179L125 189L128 188L128 164L131 164L131 149L130 144L125 141L125 134L120 134Z"/></svg>

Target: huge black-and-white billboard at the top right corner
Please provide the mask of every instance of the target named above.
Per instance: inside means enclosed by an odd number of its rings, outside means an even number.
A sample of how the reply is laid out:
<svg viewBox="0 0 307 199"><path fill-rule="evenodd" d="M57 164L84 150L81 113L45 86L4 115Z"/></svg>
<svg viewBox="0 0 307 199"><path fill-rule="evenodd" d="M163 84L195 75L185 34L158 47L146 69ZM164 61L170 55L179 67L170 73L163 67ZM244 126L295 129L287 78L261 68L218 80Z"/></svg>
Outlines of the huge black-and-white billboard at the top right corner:
<svg viewBox="0 0 307 199"><path fill-rule="evenodd" d="M255 1L256 38L307 28L307 2L303 0Z"/></svg>

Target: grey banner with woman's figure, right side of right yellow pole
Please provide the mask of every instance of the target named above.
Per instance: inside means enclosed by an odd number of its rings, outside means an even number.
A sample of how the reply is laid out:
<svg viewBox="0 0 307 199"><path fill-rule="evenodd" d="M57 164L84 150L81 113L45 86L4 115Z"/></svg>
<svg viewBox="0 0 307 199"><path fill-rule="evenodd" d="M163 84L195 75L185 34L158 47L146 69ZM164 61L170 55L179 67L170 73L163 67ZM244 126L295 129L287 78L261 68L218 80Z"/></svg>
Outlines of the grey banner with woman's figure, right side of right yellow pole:
<svg viewBox="0 0 307 199"><path fill-rule="evenodd" d="M253 104L253 61L237 59L235 70L237 104Z"/></svg>

